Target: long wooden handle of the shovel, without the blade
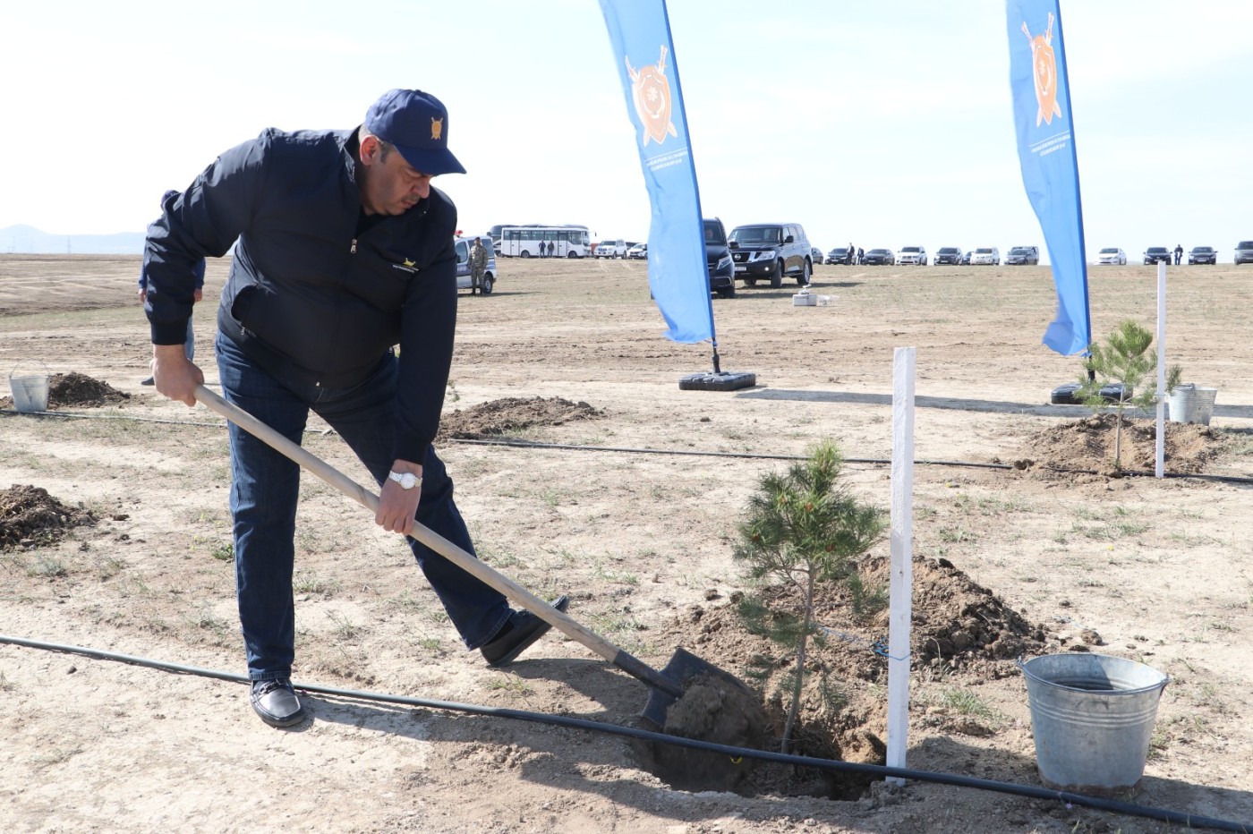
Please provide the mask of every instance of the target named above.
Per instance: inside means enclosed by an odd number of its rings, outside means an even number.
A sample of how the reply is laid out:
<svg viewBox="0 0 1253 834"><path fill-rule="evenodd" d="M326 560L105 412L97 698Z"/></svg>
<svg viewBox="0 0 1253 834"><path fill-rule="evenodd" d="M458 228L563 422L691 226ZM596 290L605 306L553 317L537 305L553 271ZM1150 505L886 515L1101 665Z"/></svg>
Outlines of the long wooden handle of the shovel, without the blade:
<svg viewBox="0 0 1253 834"><path fill-rule="evenodd" d="M246 412L243 408L227 402L218 394L205 388L203 384L195 387L195 399L211 411L217 412L219 416L229 420L232 423L256 436L258 440L264 441L267 446L282 453L284 457L291 458L304 470L308 470L313 475L318 476L357 503L367 507L372 512L378 511L377 495L366 490L363 486L340 472L318 456L304 450L302 446L287 440L277 431ZM639 660L613 645L596 632L590 631L569 615L558 611L551 605L535 596L504 574L496 572L430 527L415 522L413 532L410 537L426 545L465 572L477 580L481 580L484 584L490 585L517 605L540 617L561 634L566 635L571 640L579 641L605 660L613 662L635 677L639 677L645 684L655 686L670 695L680 694L673 682L662 677L662 675L655 670L645 666Z"/></svg>

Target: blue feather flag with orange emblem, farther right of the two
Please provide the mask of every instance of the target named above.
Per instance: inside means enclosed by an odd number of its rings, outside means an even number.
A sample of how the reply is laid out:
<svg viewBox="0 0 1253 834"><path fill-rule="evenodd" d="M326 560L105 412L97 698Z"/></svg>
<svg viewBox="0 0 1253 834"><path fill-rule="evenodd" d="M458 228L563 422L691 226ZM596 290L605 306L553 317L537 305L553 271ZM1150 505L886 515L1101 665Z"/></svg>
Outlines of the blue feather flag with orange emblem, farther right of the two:
<svg viewBox="0 0 1253 834"><path fill-rule="evenodd" d="M1070 356L1088 349L1091 323L1061 11L1058 0L1006 0L1005 13L1022 185L1040 218L1058 288L1058 313L1044 343Z"/></svg>

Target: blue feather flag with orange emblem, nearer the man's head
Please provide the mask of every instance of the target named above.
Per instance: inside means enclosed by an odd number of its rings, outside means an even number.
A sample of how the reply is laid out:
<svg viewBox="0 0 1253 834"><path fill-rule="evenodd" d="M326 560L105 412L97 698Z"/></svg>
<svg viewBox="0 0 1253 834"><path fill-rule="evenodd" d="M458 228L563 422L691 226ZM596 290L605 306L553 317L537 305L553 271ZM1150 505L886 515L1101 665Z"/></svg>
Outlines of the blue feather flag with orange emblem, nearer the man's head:
<svg viewBox="0 0 1253 834"><path fill-rule="evenodd" d="M653 219L648 283L675 342L713 339L697 172L665 0L600 0Z"/></svg>

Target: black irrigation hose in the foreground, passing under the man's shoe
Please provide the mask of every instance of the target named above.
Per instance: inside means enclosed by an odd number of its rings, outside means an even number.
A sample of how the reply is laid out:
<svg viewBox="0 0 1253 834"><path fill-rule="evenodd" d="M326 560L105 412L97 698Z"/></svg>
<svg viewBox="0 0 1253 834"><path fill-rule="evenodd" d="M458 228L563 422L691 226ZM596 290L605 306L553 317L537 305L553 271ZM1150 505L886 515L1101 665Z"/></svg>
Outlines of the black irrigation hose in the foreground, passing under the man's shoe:
<svg viewBox="0 0 1253 834"><path fill-rule="evenodd" d="M147 666L149 669L159 669L162 671L170 671L183 675L199 675L202 677L214 677L217 680L234 681L241 684L248 682L248 679L244 675L236 675L232 672L217 671L213 669L200 669L197 666L183 666L179 664L169 664L160 660L135 657L134 655L120 655L112 651L104 651L100 649L88 649L84 646L70 646L54 642L43 642L39 640L28 640L25 637L14 637L9 635L0 635L0 642L11 644L16 646L26 646L29 649L44 649L48 651L60 651L64 654L83 655L96 660L114 660L124 664L132 664L134 666ZM306 684L296 684L296 689L299 689L306 692L315 692L318 695L331 695L335 698L377 701L381 704L401 704L403 706L421 706L426 709L466 713L470 715L486 715L491 718L514 719L517 721L533 721L535 724L548 724L551 726L564 726L576 730L589 730L593 733L605 733L609 735L623 735L633 739L640 739L644 741L652 741L655 744L670 744L680 748L690 748L693 750L719 753L732 758L743 756L749 759L757 759L761 761L774 761L777 764L788 764L801 768L814 768L818 770L836 770L845 773L857 773L871 776L912 779L916 781L933 781L941 785L956 785L959 788L976 788L979 790L991 790L1002 794L1015 794L1019 796L1027 796L1031 799L1058 800L1066 803L1068 805L1083 805L1086 808L1093 808L1095 810L1111 811L1115 814L1144 816L1148 819L1157 819L1167 823L1179 823L1182 825L1187 825L1190 828L1212 828L1220 831L1239 831L1240 834L1253 834L1253 823L1248 824L1233 823L1229 820L1215 819L1212 816L1198 816L1195 814L1188 814L1185 811L1168 810L1164 808L1150 808L1148 805L1135 805L1133 803L1123 803L1114 799L1099 799L1096 796L1085 796L1083 794L1073 794L1065 790L1051 790L1049 788L1019 785L1012 781L996 781L992 779L979 779L976 776L962 776L959 774L937 773L932 770L913 770L910 768L890 768L887 765L868 765L868 764L858 764L855 761L838 761L836 759L811 759L807 756L798 756L786 753L771 753L768 750L734 748L725 744L713 744L709 741L699 741L697 739L684 739L677 735L667 735L664 733L652 733L649 730L640 730L629 726L619 726L616 724L605 724L603 721L589 721L586 719L575 719L565 715L549 715L546 713L510 710L499 706L480 706L477 704L460 704L456 701L439 701L426 698L407 698L403 695L387 695L382 692L367 692L351 689L335 689L331 686L317 686Z"/></svg>

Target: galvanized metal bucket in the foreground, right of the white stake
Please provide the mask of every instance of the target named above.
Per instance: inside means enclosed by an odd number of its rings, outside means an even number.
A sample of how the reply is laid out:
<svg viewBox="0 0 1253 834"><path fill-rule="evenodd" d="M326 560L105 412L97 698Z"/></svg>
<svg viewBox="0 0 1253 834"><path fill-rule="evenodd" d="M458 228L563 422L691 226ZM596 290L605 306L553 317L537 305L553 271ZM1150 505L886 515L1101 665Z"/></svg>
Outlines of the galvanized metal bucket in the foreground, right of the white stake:
<svg viewBox="0 0 1253 834"><path fill-rule="evenodd" d="M1078 794L1134 793L1170 679L1134 660L1086 652L1045 655L1019 666L1040 780Z"/></svg>

